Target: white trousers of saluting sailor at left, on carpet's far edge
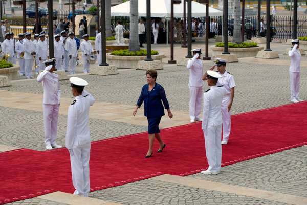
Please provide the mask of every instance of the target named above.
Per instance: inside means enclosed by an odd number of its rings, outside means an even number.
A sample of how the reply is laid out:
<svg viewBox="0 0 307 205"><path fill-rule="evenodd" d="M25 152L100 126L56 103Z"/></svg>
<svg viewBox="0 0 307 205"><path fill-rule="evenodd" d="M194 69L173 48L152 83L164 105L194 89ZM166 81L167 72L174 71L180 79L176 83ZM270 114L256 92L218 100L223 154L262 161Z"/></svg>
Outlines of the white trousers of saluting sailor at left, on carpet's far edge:
<svg viewBox="0 0 307 205"><path fill-rule="evenodd" d="M59 105L42 104L43 127L45 129L45 144L54 144L57 138L57 121Z"/></svg>

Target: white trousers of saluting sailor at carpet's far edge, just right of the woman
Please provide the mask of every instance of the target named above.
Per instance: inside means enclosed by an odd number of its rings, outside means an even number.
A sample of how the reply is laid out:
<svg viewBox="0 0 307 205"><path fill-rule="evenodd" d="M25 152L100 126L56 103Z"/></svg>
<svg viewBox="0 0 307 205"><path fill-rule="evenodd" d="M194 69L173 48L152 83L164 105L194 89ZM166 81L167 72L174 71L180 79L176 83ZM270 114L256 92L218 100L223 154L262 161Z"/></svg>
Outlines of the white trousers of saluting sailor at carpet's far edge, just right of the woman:
<svg viewBox="0 0 307 205"><path fill-rule="evenodd" d="M195 120L201 114L202 99L203 99L203 87L189 86L190 89L190 118Z"/></svg>

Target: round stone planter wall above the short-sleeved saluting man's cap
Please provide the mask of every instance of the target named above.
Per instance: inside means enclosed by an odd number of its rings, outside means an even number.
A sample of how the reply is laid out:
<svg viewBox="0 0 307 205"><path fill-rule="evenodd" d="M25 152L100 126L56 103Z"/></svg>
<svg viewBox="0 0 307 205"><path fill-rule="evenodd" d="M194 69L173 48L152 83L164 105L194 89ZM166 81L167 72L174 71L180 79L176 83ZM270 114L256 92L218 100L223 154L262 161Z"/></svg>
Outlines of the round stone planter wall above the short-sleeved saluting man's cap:
<svg viewBox="0 0 307 205"><path fill-rule="evenodd" d="M224 47L211 46L211 49L213 57L215 57L216 55L220 55L224 51ZM238 58L243 58L243 57L255 57L258 51L261 51L263 49L264 47L257 46L251 48L228 48L228 51L232 54L236 54Z"/></svg>

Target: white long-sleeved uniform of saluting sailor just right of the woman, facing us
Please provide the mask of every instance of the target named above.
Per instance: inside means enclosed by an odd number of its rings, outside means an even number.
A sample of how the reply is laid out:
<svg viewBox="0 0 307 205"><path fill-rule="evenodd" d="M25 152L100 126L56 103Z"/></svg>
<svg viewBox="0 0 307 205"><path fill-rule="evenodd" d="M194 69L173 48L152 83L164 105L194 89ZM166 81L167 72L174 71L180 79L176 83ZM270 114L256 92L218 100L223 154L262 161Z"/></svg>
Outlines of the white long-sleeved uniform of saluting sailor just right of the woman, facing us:
<svg viewBox="0 0 307 205"><path fill-rule="evenodd" d="M198 120L202 109L203 98L203 61L197 59L198 54L194 55L188 61L187 69L189 69L189 90L190 90L190 118L191 120Z"/></svg>

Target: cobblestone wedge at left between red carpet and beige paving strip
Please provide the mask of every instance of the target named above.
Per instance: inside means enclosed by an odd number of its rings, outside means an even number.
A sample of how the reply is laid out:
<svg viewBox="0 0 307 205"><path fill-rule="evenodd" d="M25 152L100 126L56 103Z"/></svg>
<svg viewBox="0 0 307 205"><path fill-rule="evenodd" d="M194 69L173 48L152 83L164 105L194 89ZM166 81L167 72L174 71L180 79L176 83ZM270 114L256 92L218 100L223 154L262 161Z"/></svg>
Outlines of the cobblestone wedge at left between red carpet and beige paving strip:
<svg viewBox="0 0 307 205"><path fill-rule="evenodd" d="M0 106L0 144L18 148L46 150L43 144L42 112L13 109ZM125 124L121 122L90 119L91 140L97 141L120 135L144 132L146 126ZM58 118L58 144L65 145L67 116Z"/></svg>

